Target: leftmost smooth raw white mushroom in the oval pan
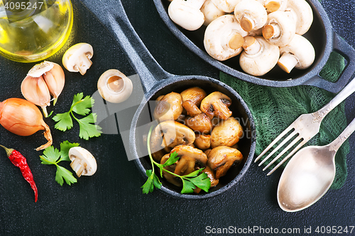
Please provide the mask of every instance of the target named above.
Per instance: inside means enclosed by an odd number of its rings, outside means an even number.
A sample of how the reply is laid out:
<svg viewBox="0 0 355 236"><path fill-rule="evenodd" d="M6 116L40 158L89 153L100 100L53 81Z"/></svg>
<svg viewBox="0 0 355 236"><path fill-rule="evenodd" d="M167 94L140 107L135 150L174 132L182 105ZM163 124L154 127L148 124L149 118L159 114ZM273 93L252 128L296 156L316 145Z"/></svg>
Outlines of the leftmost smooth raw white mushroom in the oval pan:
<svg viewBox="0 0 355 236"><path fill-rule="evenodd" d="M186 30L197 30L204 23L204 14L200 11L205 0L173 0L168 7L172 21Z"/></svg>

